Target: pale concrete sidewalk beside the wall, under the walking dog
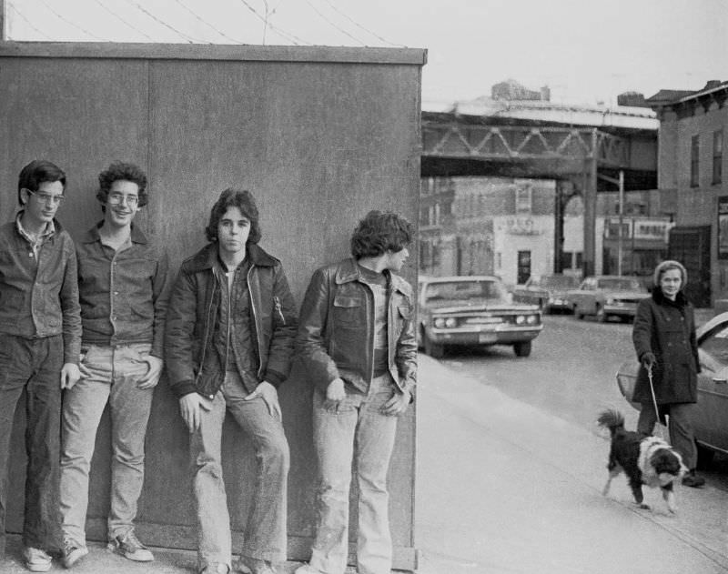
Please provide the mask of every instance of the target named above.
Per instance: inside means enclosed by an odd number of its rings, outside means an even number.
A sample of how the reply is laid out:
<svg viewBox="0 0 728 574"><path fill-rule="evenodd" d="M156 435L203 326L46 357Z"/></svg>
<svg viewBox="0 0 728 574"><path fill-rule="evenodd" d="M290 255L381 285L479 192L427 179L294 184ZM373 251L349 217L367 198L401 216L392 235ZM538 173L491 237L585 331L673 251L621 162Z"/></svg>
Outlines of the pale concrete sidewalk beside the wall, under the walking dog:
<svg viewBox="0 0 728 574"><path fill-rule="evenodd" d="M728 493L678 486L671 516L649 488L652 510L637 509L621 476L604 498L609 443L596 425L422 355L418 404L420 574L728 572Z"/></svg>

